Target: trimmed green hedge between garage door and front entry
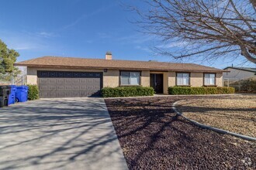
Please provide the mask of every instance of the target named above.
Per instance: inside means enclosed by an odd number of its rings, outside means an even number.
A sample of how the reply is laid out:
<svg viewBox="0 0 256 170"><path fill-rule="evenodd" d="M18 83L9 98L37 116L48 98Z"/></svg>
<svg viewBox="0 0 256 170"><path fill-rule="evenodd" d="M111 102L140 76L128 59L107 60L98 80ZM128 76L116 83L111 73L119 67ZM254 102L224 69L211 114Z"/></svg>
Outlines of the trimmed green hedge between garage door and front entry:
<svg viewBox="0 0 256 170"><path fill-rule="evenodd" d="M139 97L153 96L152 87L104 87L102 97Z"/></svg>

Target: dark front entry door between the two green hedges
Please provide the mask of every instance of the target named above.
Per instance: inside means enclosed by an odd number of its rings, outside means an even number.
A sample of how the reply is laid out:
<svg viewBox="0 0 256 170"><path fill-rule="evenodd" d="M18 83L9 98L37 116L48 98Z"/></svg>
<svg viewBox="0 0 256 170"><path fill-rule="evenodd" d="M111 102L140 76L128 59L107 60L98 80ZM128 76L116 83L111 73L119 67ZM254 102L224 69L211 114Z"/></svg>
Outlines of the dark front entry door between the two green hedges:
<svg viewBox="0 0 256 170"><path fill-rule="evenodd" d="M156 93L163 93L163 74L150 73L150 87L153 87Z"/></svg>

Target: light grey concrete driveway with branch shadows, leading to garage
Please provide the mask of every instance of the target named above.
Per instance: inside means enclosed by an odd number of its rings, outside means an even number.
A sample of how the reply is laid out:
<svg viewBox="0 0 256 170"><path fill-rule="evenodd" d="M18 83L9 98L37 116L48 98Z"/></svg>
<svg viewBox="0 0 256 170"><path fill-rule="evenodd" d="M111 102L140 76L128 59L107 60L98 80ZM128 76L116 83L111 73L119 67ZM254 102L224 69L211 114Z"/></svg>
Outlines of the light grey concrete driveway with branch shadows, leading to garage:
<svg viewBox="0 0 256 170"><path fill-rule="evenodd" d="M127 169L102 98L0 108L0 169Z"/></svg>

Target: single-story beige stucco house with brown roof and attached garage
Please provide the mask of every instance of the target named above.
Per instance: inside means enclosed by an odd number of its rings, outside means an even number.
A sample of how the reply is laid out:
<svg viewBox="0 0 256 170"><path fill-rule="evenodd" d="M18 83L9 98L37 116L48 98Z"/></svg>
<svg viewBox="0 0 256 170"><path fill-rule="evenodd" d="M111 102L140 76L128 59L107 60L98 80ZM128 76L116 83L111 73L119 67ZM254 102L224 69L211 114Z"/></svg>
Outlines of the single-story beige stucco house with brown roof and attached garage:
<svg viewBox="0 0 256 170"><path fill-rule="evenodd" d="M15 64L27 66L27 83L38 84L40 97L87 97L102 87L154 87L168 93L173 86L223 86L223 72L192 63L43 56Z"/></svg>

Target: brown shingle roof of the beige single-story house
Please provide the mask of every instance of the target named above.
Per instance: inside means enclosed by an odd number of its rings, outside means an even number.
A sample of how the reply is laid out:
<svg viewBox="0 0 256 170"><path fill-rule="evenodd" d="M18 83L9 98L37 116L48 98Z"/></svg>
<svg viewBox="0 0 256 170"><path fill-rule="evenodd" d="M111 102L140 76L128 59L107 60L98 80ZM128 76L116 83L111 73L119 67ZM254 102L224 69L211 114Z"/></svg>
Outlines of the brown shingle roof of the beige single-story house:
<svg viewBox="0 0 256 170"><path fill-rule="evenodd" d="M43 56L36 59L15 63L16 66L33 67L59 67L59 68L91 68L91 69L118 69L118 70L159 70L159 71L193 71L214 72L219 70L209 66L201 66L193 63L166 63L155 61L134 61L118 59L85 59L60 56Z"/></svg>

